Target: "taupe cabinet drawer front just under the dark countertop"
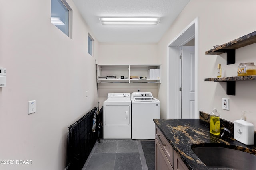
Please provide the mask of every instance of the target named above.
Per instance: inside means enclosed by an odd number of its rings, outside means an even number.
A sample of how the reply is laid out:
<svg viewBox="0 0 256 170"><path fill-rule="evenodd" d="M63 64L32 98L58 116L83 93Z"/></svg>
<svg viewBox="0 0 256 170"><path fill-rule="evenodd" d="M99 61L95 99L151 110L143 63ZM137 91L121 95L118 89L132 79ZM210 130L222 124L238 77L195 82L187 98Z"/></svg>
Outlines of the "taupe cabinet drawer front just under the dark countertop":
<svg viewBox="0 0 256 170"><path fill-rule="evenodd" d="M164 154L168 158L170 164L173 166L173 148L158 127L156 127L156 139L159 141L160 147L164 151Z"/></svg>

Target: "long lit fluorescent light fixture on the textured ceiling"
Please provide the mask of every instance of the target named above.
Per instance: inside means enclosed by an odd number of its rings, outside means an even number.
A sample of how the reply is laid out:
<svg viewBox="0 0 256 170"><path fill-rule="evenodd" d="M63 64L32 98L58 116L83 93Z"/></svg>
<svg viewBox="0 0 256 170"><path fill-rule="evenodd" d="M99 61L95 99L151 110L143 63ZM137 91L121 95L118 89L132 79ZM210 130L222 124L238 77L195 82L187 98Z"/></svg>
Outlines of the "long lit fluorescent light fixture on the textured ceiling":
<svg viewBox="0 0 256 170"><path fill-rule="evenodd" d="M107 18L100 17L102 25L158 25L160 18Z"/></svg>

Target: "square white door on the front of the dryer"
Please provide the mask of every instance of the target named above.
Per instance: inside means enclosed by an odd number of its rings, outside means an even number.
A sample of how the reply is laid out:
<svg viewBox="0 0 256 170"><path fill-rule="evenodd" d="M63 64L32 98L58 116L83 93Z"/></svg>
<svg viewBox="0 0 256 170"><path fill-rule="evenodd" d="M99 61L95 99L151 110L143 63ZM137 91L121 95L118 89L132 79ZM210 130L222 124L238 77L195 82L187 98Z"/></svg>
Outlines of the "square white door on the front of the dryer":
<svg viewBox="0 0 256 170"><path fill-rule="evenodd" d="M129 125L130 106L106 105L105 125Z"/></svg>

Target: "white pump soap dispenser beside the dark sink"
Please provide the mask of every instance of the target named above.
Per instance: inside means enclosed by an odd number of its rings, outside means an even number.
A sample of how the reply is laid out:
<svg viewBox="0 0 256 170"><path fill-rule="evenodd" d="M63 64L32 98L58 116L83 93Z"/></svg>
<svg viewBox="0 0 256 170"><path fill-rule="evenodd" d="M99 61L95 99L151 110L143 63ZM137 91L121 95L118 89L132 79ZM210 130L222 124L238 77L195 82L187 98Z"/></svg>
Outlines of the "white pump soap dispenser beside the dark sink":
<svg viewBox="0 0 256 170"><path fill-rule="evenodd" d="M246 111L242 111L240 120L234 121L234 139L245 145L254 145L254 125L246 121Z"/></svg>

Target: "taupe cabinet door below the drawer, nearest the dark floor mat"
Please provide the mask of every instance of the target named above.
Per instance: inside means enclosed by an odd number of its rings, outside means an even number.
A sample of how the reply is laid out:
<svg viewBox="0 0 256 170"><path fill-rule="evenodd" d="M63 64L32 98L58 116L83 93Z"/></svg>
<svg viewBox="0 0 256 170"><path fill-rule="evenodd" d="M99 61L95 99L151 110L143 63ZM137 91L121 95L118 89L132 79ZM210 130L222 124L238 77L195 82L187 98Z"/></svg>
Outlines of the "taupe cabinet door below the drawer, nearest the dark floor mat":
<svg viewBox="0 0 256 170"><path fill-rule="evenodd" d="M155 170L173 170L157 139L155 139Z"/></svg>

